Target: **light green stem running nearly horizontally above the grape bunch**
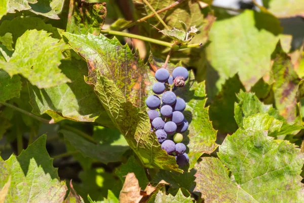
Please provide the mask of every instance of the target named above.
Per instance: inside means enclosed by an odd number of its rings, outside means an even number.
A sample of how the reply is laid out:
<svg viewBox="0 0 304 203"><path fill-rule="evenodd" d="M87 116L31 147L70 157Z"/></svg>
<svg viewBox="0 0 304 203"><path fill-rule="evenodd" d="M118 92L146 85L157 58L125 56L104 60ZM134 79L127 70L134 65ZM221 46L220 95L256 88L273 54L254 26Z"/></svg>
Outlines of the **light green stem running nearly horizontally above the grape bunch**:
<svg viewBox="0 0 304 203"><path fill-rule="evenodd" d="M172 48L173 50L187 49L187 48L194 48L194 47L203 46L202 43L190 44L190 45L177 45L175 43L172 44L172 43L169 43L169 42L164 42L164 41L161 41L161 40L155 40L155 39L152 39L152 38L147 38L147 37L143 37L143 36L140 36L140 35L134 35L134 34L127 33L127 32L107 30L107 29L100 30L100 33L105 33L105 34L109 34L109 35L116 35L116 36L123 36L123 37L127 37L127 38L134 38L134 39L142 40L142 41L145 41L145 42L158 44L158 45L161 45L161 46L164 46L164 47L169 47L169 48Z"/></svg>

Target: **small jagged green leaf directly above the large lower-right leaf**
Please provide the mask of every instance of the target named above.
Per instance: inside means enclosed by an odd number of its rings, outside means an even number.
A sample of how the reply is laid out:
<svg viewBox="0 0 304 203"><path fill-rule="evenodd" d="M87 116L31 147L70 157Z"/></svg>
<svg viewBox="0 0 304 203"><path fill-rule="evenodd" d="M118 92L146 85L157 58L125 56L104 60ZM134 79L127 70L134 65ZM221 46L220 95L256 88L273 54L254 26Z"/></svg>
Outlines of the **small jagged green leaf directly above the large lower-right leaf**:
<svg viewBox="0 0 304 203"><path fill-rule="evenodd" d="M239 127L243 127L243 119L257 113L267 113L275 119L285 121L280 116L279 112L272 107L272 105L264 105L255 95L251 92L240 91L237 95L238 103L235 103L235 119Z"/></svg>

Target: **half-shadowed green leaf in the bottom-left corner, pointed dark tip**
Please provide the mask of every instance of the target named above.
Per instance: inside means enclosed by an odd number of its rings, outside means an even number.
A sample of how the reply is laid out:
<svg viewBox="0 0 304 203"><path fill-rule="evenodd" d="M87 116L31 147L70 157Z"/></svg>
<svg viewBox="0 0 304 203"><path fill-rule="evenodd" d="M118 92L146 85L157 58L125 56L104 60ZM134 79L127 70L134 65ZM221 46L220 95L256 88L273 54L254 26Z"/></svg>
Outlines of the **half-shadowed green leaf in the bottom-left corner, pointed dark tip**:
<svg viewBox="0 0 304 203"><path fill-rule="evenodd" d="M43 135L23 150L19 156L0 160L0 189L11 177L5 202L62 202L65 182L60 182L57 168L46 150L47 136Z"/></svg>

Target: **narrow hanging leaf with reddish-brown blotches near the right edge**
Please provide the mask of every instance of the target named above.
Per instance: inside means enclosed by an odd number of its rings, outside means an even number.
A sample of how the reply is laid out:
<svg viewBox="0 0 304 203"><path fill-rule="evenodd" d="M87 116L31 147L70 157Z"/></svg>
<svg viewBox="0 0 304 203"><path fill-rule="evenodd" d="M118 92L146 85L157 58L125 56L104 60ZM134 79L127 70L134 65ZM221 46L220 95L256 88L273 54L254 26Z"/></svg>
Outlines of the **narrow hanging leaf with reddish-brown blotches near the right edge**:
<svg viewBox="0 0 304 203"><path fill-rule="evenodd" d="M297 119L296 92L300 82L293 69L290 57L282 50L281 43L272 54L274 60L271 70L271 80L275 97L275 106L287 121Z"/></svg>

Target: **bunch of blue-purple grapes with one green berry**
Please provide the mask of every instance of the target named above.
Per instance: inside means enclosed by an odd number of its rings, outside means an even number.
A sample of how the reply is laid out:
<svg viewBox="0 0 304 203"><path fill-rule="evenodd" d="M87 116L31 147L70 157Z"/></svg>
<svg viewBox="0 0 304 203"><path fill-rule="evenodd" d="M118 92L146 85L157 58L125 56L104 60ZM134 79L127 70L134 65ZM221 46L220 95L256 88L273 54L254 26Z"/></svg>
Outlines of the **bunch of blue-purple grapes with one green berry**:
<svg viewBox="0 0 304 203"><path fill-rule="evenodd" d="M188 128L188 122L182 114L186 103L182 98L177 98L173 91L184 86L188 79L188 71L184 67L178 66L170 76L168 70L159 69L155 73L155 78L158 81L152 86L155 95L150 95L146 99L146 105L150 109L148 116L151 131L155 131L162 149L166 150L169 155L175 156L179 166L184 166L189 162L181 134ZM162 98L157 96L160 94L162 94Z"/></svg>

